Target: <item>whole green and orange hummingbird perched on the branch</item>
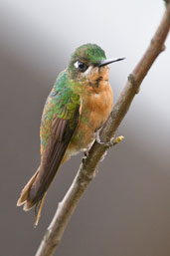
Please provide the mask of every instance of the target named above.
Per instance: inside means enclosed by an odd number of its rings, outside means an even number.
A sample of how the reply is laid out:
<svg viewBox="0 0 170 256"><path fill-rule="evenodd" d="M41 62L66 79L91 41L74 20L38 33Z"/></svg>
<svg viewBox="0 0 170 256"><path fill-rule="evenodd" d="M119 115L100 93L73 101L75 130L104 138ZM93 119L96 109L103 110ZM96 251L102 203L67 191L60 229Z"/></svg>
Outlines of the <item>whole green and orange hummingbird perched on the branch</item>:
<svg viewBox="0 0 170 256"><path fill-rule="evenodd" d="M59 74L42 115L40 166L17 201L17 206L24 204L25 211L35 206L35 225L60 166L88 148L107 120L113 106L108 65L123 59L106 59L99 46L85 44L76 49L68 68Z"/></svg>

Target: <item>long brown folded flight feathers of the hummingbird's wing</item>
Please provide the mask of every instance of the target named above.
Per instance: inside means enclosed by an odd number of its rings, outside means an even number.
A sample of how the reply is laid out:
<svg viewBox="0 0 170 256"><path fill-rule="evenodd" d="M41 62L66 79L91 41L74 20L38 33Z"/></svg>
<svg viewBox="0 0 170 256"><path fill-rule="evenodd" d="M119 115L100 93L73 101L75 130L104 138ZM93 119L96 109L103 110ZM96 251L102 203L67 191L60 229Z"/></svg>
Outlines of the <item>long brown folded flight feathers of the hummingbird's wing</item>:
<svg viewBox="0 0 170 256"><path fill-rule="evenodd" d="M60 119L57 116L53 120L52 133L42 156L39 173L30 189L29 200L32 204L42 199L59 169L66 149L78 126L79 109L77 109L75 117L72 119L72 124L71 121Z"/></svg>

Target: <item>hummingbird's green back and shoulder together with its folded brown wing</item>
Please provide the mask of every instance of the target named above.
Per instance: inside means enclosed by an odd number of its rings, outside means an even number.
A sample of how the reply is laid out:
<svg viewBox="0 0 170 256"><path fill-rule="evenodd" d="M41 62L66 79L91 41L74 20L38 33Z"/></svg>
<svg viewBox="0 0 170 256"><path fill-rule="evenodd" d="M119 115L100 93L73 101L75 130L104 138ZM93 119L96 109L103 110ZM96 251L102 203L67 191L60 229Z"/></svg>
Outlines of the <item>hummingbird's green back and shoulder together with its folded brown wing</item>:
<svg viewBox="0 0 170 256"><path fill-rule="evenodd" d="M58 78L45 105L40 128L42 159L29 192L32 205L43 198L79 123L80 97L68 83L65 72Z"/></svg>

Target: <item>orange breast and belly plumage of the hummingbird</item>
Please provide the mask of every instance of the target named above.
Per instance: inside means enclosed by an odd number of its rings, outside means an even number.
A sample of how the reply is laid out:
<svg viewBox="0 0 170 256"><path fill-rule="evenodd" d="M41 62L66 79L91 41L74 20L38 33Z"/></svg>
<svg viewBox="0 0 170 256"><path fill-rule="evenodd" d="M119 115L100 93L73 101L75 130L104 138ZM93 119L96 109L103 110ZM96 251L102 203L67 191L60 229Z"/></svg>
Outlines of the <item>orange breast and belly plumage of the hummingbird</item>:
<svg viewBox="0 0 170 256"><path fill-rule="evenodd" d="M64 161L73 154L88 148L94 139L94 132L107 120L111 109L112 90L110 87L100 94L91 94L88 99L85 99L82 105L79 126L71 139Z"/></svg>

